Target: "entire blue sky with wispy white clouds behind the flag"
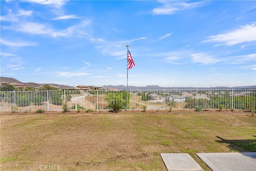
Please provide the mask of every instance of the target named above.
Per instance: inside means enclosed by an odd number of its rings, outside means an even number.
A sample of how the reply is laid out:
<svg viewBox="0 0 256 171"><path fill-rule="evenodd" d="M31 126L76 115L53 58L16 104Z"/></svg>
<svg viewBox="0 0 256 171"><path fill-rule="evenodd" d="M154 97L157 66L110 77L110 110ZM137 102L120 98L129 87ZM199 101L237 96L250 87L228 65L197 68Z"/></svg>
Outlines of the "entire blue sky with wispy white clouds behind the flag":
<svg viewBox="0 0 256 171"><path fill-rule="evenodd" d="M256 1L0 1L1 73L22 82L256 85Z"/></svg>

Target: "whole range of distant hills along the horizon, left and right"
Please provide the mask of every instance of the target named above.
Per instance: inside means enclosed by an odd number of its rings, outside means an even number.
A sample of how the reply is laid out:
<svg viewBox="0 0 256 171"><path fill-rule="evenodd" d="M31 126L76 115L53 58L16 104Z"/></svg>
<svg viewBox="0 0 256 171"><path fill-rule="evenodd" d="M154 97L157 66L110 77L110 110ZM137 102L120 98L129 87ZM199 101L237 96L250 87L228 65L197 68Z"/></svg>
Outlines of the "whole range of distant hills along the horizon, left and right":
<svg viewBox="0 0 256 171"><path fill-rule="evenodd" d="M18 84L25 84L26 87L39 87L45 84L38 84L34 82L20 82L15 78L8 78L8 77L0 77L0 82L8 82L8 83L18 83ZM60 85L60 84L49 84L54 86L60 86L62 89L74 89L76 87L70 85ZM103 85L104 88L112 88L112 89L120 89L126 90L126 86L124 85ZM238 86L238 87L160 87L158 85L147 85L144 87L137 87L137 86L128 86L128 89L256 89L256 85L251 86Z"/></svg>

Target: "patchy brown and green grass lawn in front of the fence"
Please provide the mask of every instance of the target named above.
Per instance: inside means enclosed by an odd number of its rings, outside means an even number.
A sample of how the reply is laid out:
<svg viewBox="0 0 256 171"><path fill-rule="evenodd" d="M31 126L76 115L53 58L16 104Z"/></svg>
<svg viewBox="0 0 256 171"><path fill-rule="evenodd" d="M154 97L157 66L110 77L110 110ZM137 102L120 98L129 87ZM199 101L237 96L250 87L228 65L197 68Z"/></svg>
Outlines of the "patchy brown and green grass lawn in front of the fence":
<svg viewBox="0 0 256 171"><path fill-rule="evenodd" d="M166 171L160 153L256 152L250 113L0 115L1 170Z"/></svg>

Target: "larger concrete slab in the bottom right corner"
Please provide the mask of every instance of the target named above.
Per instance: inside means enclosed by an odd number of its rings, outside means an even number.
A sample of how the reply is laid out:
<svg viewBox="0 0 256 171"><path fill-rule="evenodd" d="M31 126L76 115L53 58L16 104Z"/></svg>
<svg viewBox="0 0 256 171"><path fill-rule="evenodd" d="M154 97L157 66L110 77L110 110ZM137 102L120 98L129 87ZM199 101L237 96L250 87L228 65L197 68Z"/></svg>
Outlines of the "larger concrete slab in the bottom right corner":
<svg viewBox="0 0 256 171"><path fill-rule="evenodd" d="M196 153L213 171L256 171L256 153Z"/></svg>

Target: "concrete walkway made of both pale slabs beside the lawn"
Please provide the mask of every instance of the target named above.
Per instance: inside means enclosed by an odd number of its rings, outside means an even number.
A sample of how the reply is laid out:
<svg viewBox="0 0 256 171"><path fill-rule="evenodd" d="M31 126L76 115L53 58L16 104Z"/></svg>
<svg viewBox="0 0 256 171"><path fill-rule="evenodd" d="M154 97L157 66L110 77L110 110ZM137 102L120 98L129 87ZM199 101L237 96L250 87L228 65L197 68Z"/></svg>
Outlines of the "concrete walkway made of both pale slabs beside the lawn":
<svg viewBox="0 0 256 171"><path fill-rule="evenodd" d="M188 153L160 154L168 171L203 171ZM213 171L256 171L256 153L196 153Z"/></svg>

